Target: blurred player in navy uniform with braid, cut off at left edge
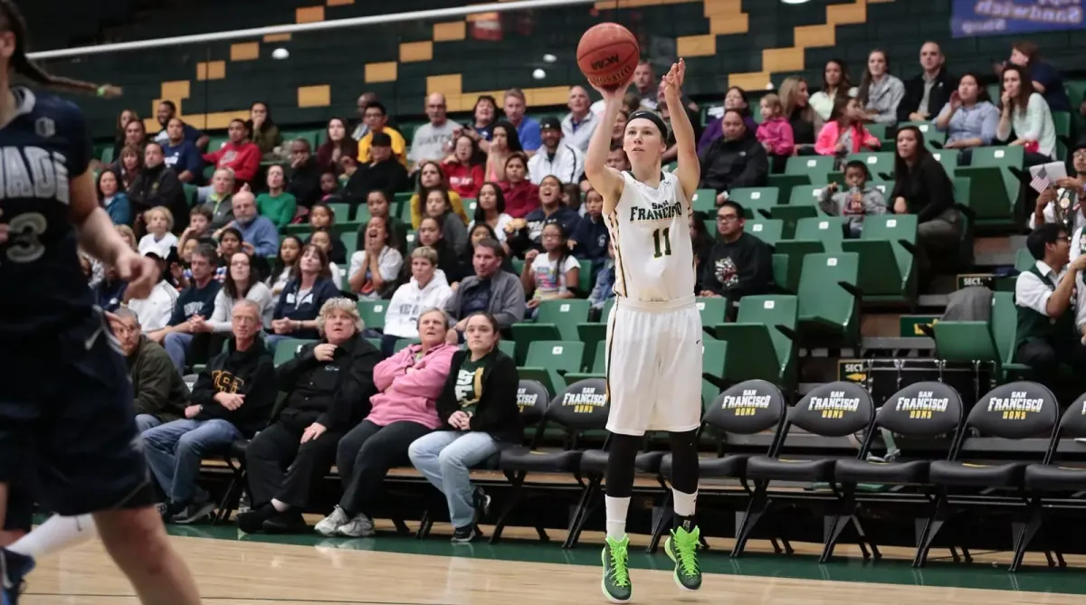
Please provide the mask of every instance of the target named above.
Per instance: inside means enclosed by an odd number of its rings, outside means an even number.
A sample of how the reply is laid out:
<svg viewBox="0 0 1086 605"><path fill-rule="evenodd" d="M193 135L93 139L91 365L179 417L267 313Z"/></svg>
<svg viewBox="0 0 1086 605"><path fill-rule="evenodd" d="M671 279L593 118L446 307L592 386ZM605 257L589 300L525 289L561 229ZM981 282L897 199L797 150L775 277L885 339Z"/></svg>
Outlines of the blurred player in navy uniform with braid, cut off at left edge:
<svg viewBox="0 0 1086 605"><path fill-rule="evenodd" d="M65 517L92 514L142 603L200 603L153 505L131 384L77 246L115 266L136 297L150 293L157 271L99 207L78 107L11 88L12 74L46 88L116 92L38 68L26 56L22 15L0 0L0 519L25 530L34 499L64 516L39 529L63 532L60 522L73 520ZM34 566L39 549L26 542L36 532L0 550L3 605L14 605Z"/></svg>

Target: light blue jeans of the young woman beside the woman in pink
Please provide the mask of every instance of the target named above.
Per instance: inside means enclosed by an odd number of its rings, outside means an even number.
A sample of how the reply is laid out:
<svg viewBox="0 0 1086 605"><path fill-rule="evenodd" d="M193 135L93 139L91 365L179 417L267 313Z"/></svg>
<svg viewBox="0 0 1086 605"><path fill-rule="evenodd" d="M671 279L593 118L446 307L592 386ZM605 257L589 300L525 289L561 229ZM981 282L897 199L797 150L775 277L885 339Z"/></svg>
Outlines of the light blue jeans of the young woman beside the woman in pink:
<svg viewBox="0 0 1086 605"><path fill-rule="evenodd" d="M472 466L497 453L505 443L489 433L435 430L419 437L407 448L415 468L445 494L453 527L468 527L475 520L471 503Z"/></svg>

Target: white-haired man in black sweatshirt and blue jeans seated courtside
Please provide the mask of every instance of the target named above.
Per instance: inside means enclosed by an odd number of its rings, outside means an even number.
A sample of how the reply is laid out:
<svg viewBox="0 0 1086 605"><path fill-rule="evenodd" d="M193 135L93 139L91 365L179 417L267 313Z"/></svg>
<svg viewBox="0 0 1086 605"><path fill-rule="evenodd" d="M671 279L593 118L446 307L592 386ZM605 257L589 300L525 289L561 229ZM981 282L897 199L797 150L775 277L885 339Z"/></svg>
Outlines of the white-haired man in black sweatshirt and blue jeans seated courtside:
<svg viewBox="0 0 1086 605"><path fill-rule="evenodd" d="M212 359L189 396L185 417L143 433L143 453L166 502L163 519L194 523L215 510L197 485L200 461L229 451L267 424L276 399L275 366L260 338L261 308L252 300L233 306L227 350Z"/></svg>

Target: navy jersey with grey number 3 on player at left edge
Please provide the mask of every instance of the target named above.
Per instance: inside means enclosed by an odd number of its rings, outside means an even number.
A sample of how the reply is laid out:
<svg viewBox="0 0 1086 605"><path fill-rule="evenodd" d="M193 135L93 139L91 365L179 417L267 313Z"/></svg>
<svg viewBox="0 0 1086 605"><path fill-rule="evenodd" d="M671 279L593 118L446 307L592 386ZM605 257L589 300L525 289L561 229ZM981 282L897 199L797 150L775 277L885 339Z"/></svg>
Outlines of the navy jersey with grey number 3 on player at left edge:
<svg viewBox="0 0 1086 605"><path fill-rule="evenodd" d="M62 327L94 305L79 267L68 181L87 170L90 138L79 108L13 88L18 112L0 128L0 338Z"/></svg>

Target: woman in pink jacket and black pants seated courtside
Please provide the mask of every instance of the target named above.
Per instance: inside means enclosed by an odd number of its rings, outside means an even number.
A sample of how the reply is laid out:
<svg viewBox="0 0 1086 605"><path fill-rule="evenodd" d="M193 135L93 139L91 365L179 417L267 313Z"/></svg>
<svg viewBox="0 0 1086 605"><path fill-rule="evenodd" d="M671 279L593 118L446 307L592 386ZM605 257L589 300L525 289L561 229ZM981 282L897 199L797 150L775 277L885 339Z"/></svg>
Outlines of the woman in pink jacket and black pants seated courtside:
<svg viewBox="0 0 1086 605"><path fill-rule="evenodd" d="M441 426L438 396L456 353L456 346L445 343L447 325L441 309L424 311L418 318L420 344L401 349L374 368L378 394L369 398L369 415L339 442L336 465L343 479L343 498L317 524L318 533L372 536L370 513L384 475L393 466L411 464L407 447Z"/></svg>

